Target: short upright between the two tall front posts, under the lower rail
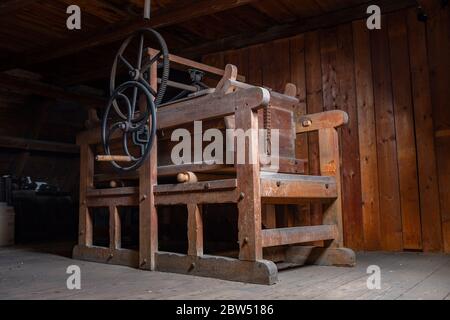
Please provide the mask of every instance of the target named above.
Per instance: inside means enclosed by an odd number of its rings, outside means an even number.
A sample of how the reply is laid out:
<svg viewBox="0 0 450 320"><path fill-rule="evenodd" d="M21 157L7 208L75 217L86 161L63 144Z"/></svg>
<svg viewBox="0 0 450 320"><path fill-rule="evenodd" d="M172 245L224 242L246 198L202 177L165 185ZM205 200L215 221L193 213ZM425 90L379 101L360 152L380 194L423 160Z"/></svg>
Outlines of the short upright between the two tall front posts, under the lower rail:
<svg viewBox="0 0 450 320"><path fill-rule="evenodd" d="M203 255L203 221L202 209L194 203L188 204L188 255L200 257Z"/></svg>

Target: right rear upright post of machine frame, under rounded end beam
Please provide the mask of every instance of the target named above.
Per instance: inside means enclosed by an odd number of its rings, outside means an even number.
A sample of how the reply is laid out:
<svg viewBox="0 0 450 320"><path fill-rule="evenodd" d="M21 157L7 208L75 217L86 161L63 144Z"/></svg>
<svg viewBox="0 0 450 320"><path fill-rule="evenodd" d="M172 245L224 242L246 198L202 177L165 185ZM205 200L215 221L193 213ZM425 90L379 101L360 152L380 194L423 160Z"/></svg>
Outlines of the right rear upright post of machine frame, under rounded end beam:
<svg viewBox="0 0 450 320"><path fill-rule="evenodd" d="M332 247L343 247L341 173L339 162L339 136L335 128L319 130L320 173L336 179L337 199L324 208L323 224L336 225L338 237L329 243Z"/></svg>

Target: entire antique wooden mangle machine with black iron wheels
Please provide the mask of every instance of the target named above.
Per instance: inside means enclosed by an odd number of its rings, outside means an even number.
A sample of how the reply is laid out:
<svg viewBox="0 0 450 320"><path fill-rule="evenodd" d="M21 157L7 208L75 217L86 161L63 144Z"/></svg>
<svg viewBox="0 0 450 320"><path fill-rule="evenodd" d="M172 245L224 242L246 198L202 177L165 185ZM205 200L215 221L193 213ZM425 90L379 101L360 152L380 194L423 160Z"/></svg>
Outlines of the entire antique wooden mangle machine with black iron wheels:
<svg viewBox="0 0 450 320"><path fill-rule="evenodd" d="M149 8L147 1L147 18ZM169 80L171 66L188 70L190 83ZM203 75L216 77L215 87L205 85ZM336 130L348 122L347 114L299 116L294 85L278 93L243 79L233 65L221 70L170 55L153 29L125 40L101 123L92 112L91 128L77 137L80 216L74 258L258 284L275 283L281 268L355 264L354 252L343 247ZM169 95L168 87L178 91ZM203 130L216 128L224 136L239 129L266 134L245 136L245 150L224 147L233 159L246 154L243 163L195 157L174 163L173 132L182 128L194 141L194 122L200 121ZM275 132L279 142L272 154ZM307 160L295 158L297 135L309 132L318 132L317 176L306 175ZM262 161L268 154L276 169ZM302 211L291 209L310 203L322 205L323 224L296 226L295 215ZM108 240L102 245L95 239L98 212L106 217ZM134 219L127 216L132 214ZM124 245L125 221L136 230L134 246Z"/></svg>

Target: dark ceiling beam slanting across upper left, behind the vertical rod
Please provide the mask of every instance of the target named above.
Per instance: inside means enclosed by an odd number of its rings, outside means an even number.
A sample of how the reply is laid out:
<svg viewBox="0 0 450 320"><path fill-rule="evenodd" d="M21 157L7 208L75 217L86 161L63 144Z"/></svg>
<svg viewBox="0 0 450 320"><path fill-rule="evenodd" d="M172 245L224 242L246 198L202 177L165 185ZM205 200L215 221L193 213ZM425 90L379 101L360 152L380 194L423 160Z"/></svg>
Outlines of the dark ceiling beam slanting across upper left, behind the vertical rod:
<svg viewBox="0 0 450 320"><path fill-rule="evenodd" d="M199 0L190 5L161 9L152 15L150 21L142 18L131 22L117 23L101 29L79 40L67 39L54 45L46 46L16 55L0 63L0 71L24 68L30 65L51 61L86 49L106 45L124 39L129 34L143 27L161 28L186 22L191 19L219 13L243 6L256 0Z"/></svg>

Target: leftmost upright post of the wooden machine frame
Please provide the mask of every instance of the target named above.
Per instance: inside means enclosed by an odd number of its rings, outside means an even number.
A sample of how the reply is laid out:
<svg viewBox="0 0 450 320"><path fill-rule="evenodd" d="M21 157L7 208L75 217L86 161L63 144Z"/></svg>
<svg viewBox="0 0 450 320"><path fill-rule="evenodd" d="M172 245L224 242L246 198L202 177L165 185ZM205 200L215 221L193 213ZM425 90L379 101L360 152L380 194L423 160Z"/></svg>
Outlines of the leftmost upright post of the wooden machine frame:
<svg viewBox="0 0 450 320"><path fill-rule="evenodd" d="M80 218L78 244L92 246L92 217L87 206L87 190L94 186L94 153L88 144L80 148Z"/></svg>

